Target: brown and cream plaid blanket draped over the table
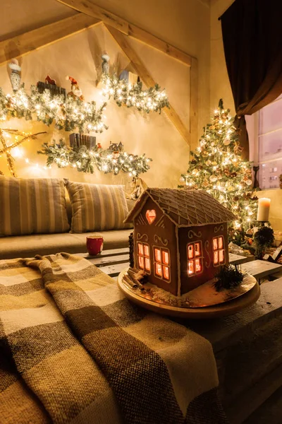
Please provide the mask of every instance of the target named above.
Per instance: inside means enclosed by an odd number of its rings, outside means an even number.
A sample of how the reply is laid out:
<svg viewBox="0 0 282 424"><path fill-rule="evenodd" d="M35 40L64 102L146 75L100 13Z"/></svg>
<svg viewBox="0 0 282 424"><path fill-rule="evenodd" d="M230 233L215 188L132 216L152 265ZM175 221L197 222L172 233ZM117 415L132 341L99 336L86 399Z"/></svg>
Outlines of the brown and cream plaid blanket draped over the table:
<svg viewBox="0 0 282 424"><path fill-rule="evenodd" d="M86 259L0 261L0 422L226 423L210 343Z"/></svg>

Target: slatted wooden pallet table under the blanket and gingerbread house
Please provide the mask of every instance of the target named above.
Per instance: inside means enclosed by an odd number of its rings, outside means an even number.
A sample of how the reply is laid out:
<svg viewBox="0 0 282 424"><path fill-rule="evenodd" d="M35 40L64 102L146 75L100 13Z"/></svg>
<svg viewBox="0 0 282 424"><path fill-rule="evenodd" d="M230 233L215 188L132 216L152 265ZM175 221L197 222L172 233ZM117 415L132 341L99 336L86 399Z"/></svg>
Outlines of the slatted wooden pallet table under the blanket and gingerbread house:
<svg viewBox="0 0 282 424"><path fill-rule="evenodd" d="M115 278L128 266L128 254L129 249L112 249L99 257L88 254L80 257ZM231 258L256 278L282 269L282 265L267 261L243 263L247 257ZM237 314L200 321L175 320L212 343L219 372L219 394L231 424L242 424L282 386L282 278L262 284L255 305ZM257 421L248 424L254 422Z"/></svg>

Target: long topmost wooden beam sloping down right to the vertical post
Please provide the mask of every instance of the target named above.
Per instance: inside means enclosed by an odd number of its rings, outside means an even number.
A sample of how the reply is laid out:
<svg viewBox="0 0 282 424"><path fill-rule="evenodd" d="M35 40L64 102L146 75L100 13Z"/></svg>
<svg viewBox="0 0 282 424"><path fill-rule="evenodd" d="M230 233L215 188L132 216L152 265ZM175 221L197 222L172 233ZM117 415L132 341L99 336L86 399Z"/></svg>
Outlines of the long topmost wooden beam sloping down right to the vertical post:
<svg viewBox="0 0 282 424"><path fill-rule="evenodd" d="M136 38L145 44L158 49L160 52L168 54L168 56L173 57L185 65L191 66L192 57L182 52L182 50L173 47L167 42L160 40L158 37L147 33L147 31L138 28L132 23L128 23L126 20L119 18L114 15L114 13L108 12L105 9L93 4L90 0L57 0L59 3L63 3L66 6L74 8L76 11L86 13L89 16L94 18L99 18L103 20L106 25L109 25L117 30L120 30L121 33L130 35L130 37Z"/></svg>

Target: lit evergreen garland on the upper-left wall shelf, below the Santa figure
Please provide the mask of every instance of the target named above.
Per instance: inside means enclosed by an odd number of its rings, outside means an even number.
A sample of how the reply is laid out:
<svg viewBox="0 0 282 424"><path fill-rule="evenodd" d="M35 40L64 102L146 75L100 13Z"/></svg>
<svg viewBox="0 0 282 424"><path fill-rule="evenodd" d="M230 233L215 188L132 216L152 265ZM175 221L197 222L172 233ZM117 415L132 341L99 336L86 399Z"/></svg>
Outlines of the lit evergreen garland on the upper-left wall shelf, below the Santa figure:
<svg viewBox="0 0 282 424"><path fill-rule="evenodd" d="M80 98L68 95L51 95L50 90L39 93L37 87L31 86L30 95L25 86L20 87L13 95L5 95L0 88L0 119L5 121L9 117L32 119L50 126L55 122L57 129L73 131L78 128L80 133L94 131L102 133L108 126L103 122L103 111L106 102L96 109L96 103L85 102Z"/></svg>

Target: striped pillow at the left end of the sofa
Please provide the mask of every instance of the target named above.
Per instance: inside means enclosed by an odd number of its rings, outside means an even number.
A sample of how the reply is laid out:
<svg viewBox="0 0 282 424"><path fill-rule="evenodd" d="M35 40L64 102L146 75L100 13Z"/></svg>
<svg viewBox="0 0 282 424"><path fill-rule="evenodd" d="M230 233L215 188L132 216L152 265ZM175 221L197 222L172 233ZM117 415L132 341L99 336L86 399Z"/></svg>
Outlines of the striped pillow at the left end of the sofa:
<svg viewBox="0 0 282 424"><path fill-rule="evenodd" d="M0 237L69 228L63 180L0 175Z"/></svg>

